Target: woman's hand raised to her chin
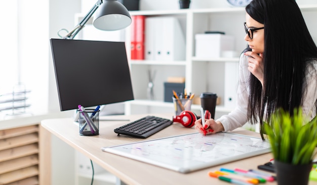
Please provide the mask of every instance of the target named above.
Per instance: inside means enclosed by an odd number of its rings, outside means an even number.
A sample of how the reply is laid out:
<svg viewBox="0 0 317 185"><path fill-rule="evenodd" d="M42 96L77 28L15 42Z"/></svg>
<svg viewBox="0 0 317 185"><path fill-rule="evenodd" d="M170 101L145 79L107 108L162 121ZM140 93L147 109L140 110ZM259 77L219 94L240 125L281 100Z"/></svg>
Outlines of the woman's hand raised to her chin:
<svg viewBox="0 0 317 185"><path fill-rule="evenodd" d="M246 56L248 58L248 70L258 79L260 80L263 87L263 78L264 78L264 64L263 64L263 54L256 54L253 52L246 52Z"/></svg>

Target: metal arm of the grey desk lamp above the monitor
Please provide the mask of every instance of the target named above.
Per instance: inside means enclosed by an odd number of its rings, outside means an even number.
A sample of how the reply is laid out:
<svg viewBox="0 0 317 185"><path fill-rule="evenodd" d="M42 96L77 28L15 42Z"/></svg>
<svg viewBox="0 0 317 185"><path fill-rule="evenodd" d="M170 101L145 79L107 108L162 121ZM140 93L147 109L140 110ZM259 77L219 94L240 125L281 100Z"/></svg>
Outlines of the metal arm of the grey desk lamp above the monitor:
<svg viewBox="0 0 317 185"><path fill-rule="evenodd" d="M63 39L73 39L78 32L80 32L87 21L91 18L91 16L95 13L95 11L98 9L98 7L103 3L103 0L98 0L97 3L90 9L90 11L86 14L86 16L83 18L83 20L77 24L77 26L74 27L71 31L67 33L63 37Z"/></svg>

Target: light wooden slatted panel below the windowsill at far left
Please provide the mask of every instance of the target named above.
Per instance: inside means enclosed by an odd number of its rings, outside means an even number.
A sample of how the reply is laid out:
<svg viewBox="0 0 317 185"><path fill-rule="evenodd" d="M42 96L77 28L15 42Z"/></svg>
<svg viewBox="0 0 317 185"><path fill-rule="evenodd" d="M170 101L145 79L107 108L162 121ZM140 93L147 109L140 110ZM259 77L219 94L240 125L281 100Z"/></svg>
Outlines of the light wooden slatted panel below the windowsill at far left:
<svg viewBox="0 0 317 185"><path fill-rule="evenodd" d="M39 183L38 124L0 130L0 184Z"/></svg>

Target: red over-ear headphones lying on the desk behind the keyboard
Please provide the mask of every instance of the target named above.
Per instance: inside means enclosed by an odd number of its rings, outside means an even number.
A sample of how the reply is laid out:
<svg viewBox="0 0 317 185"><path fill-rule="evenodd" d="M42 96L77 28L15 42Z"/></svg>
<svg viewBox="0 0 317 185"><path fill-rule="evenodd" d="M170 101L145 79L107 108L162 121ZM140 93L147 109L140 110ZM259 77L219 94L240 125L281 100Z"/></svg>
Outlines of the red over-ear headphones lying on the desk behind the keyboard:
<svg viewBox="0 0 317 185"><path fill-rule="evenodd" d="M210 119L211 114L208 110L205 111L205 119ZM173 122L181 123L184 127L190 128L195 124L197 116L191 111L183 111L179 116L173 116Z"/></svg>

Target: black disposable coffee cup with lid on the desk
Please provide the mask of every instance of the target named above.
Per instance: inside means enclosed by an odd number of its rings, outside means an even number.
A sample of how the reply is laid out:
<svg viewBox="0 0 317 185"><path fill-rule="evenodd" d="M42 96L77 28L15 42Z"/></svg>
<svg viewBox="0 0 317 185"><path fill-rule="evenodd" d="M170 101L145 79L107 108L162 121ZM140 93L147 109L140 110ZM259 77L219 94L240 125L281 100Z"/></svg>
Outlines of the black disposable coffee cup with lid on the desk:
<svg viewBox="0 0 317 185"><path fill-rule="evenodd" d="M211 114L211 118L215 119L215 109L217 103L217 94L212 92L203 92L200 96L202 108L208 110Z"/></svg>

